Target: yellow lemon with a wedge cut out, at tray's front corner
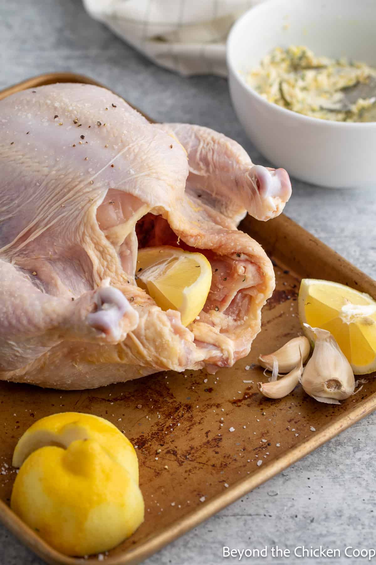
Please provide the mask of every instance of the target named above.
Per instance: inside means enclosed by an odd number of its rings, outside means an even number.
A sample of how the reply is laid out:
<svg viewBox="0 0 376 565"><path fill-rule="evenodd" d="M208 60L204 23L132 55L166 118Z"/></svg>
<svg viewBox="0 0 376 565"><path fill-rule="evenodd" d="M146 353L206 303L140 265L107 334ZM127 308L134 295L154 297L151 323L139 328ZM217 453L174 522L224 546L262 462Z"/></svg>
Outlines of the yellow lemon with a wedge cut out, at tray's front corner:
<svg viewBox="0 0 376 565"><path fill-rule="evenodd" d="M66 555L107 551L144 520L138 460L109 421L65 412L38 420L20 438L12 510Z"/></svg>

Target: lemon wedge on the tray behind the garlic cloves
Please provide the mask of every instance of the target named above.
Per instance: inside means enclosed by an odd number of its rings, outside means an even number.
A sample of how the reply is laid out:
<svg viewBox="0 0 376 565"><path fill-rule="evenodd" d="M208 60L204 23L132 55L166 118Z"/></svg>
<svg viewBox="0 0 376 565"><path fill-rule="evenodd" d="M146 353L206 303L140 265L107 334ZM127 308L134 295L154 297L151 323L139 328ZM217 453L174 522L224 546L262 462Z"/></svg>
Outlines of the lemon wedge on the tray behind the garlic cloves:
<svg viewBox="0 0 376 565"><path fill-rule="evenodd" d="M376 302L369 294L339 282L303 279L298 303L300 322L333 334L355 375L376 370Z"/></svg>

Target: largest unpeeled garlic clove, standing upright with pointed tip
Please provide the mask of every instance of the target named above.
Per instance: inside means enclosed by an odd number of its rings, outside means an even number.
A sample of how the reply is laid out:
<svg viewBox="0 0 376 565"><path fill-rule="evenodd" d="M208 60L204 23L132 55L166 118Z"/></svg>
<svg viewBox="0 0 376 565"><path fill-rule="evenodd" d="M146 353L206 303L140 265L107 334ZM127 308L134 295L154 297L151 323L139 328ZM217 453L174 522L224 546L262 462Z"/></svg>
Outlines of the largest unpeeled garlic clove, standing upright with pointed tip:
<svg viewBox="0 0 376 565"><path fill-rule="evenodd" d="M312 357L300 379L303 389L319 402L339 404L339 400L351 396L355 389L351 365L330 332L308 324L304 326L317 337Z"/></svg>

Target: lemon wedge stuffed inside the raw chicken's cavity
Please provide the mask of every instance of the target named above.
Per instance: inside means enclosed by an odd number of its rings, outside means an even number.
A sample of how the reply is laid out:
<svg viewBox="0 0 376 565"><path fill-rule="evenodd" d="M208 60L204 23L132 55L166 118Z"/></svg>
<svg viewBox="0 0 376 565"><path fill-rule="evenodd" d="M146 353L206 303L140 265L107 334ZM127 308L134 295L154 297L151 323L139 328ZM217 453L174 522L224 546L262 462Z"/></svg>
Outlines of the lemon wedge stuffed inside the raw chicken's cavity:
<svg viewBox="0 0 376 565"><path fill-rule="evenodd" d="M178 310L187 326L200 314L211 285L211 265L202 253L177 247L139 249L136 282L162 310Z"/></svg>

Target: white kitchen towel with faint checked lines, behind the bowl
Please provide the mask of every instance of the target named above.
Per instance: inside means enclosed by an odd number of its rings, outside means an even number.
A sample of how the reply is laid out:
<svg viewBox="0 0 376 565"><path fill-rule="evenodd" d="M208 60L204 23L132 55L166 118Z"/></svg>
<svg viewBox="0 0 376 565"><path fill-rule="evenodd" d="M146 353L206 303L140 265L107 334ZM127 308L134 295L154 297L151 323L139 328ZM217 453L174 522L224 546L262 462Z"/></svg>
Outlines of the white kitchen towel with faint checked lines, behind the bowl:
<svg viewBox="0 0 376 565"><path fill-rule="evenodd" d="M83 4L93 18L157 64L182 75L227 76L227 34L242 13L261 1L83 0Z"/></svg>

